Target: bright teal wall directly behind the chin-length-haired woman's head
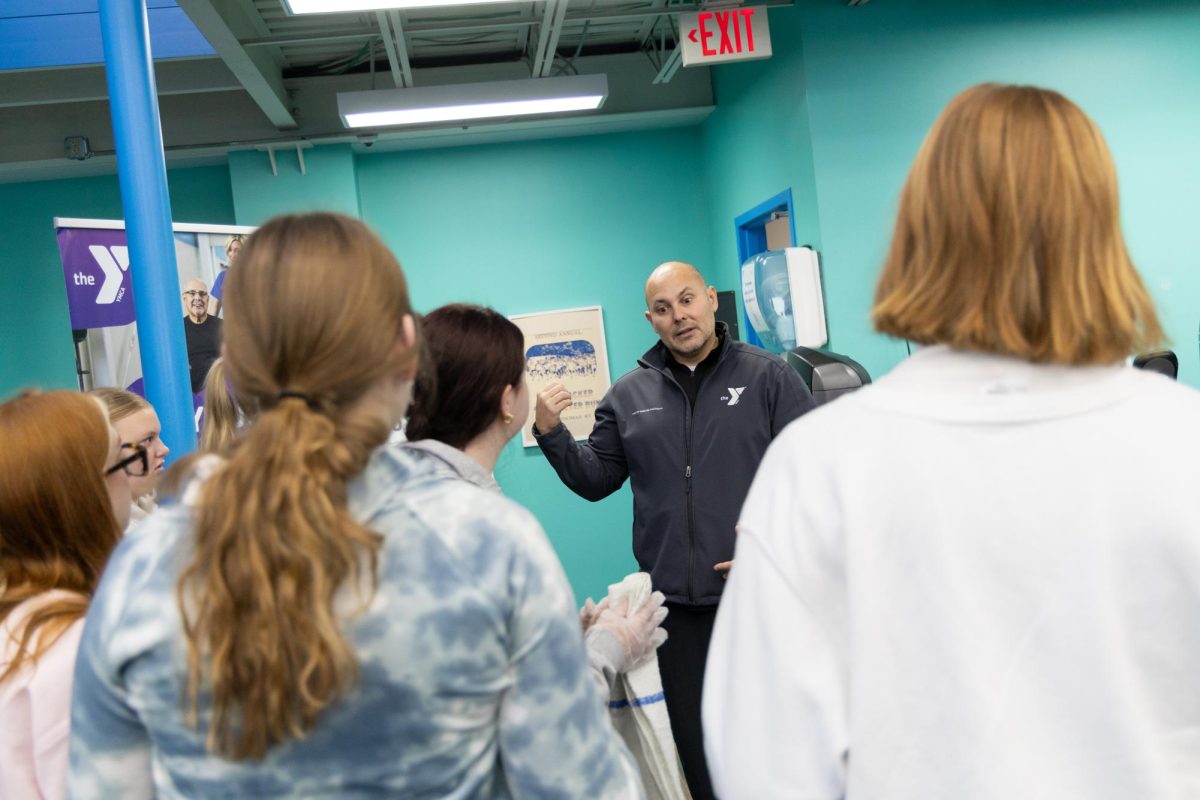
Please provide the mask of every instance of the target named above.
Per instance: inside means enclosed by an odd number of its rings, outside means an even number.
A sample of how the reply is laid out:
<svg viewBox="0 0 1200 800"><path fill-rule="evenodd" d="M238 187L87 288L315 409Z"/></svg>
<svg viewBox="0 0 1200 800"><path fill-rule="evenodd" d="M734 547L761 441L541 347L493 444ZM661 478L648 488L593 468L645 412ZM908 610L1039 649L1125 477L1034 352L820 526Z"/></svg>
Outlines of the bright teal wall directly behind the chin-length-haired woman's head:
<svg viewBox="0 0 1200 800"><path fill-rule="evenodd" d="M1200 386L1200 4L824 0L799 12L839 348L876 374L902 354L866 314L900 186L938 112L974 83L1030 83L1066 94L1106 137L1134 261L1181 379Z"/></svg>

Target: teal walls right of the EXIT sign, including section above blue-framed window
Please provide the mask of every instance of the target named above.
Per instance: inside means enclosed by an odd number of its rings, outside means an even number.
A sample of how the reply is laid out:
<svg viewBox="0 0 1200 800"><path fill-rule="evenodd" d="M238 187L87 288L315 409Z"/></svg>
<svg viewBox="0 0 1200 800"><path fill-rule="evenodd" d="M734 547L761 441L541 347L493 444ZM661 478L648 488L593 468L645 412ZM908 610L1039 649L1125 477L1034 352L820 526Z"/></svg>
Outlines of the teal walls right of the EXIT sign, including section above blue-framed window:
<svg viewBox="0 0 1200 800"><path fill-rule="evenodd" d="M714 70L703 143L722 265L736 260L733 217L791 186L797 236L821 248L830 347L887 372L904 344L874 333L868 315L925 132L974 83L1049 86L1108 138L1130 251L1181 379L1200 386L1200 4L811 0L773 10L770 24L775 58Z"/></svg>

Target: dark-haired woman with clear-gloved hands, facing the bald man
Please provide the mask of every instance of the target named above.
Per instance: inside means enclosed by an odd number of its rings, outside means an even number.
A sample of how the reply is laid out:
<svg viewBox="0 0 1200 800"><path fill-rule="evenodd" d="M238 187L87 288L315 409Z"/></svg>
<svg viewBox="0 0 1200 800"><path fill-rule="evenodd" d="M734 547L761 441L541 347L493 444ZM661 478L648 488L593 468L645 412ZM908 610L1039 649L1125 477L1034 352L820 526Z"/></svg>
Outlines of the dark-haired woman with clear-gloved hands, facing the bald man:
<svg viewBox="0 0 1200 800"><path fill-rule="evenodd" d="M404 449L440 474L499 493L492 471L529 417L524 336L482 306L442 306L421 320L430 363L413 389ZM605 698L617 674L666 640L667 609L653 593L637 609L607 603L581 612L588 663Z"/></svg>

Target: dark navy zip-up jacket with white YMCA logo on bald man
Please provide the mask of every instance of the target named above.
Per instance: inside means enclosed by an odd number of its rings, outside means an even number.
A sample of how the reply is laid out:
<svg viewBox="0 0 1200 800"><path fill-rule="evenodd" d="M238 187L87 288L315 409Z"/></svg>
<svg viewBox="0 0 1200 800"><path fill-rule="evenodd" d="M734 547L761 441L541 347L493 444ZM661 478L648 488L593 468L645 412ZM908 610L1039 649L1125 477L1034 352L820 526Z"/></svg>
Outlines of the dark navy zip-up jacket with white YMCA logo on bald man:
<svg viewBox="0 0 1200 800"><path fill-rule="evenodd" d="M720 325L724 325L719 323ZM722 336L695 408L671 374L661 342L596 407L584 445L565 426L534 433L572 492L601 500L629 477L634 555L668 601L715 606L733 558L734 524L767 446L814 408L799 374L779 356Z"/></svg>

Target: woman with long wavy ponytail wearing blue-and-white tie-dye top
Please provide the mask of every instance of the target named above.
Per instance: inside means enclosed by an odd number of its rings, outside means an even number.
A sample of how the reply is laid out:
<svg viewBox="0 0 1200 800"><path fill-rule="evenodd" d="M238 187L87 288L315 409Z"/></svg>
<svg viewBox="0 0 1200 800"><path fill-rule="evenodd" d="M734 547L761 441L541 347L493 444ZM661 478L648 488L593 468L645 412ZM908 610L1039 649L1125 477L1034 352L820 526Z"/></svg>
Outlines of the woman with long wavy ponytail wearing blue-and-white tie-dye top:
<svg viewBox="0 0 1200 800"><path fill-rule="evenodd" d="M278 217L227 282L251 425L113 558L72 796L641 796L538 523L380 447L416 368L388 248Z"/></svg>

